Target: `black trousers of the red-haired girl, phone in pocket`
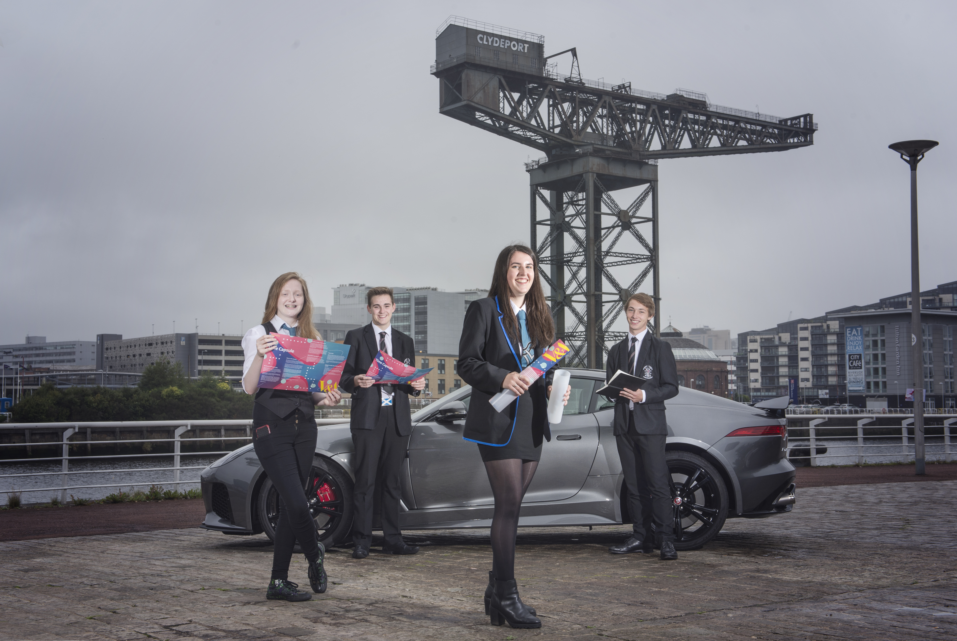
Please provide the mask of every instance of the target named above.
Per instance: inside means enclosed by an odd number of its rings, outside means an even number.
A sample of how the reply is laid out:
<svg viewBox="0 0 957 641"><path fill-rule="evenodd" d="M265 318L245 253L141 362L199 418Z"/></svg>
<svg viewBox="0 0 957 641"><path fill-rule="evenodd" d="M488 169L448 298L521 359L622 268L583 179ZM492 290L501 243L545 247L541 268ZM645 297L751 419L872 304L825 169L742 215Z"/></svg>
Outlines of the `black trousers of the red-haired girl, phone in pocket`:
<svg viewBox="0 0 957 641"><path fill-rule="evenodd" d="M268 429L263 430L263 426ZM305 494L317 435L316 419L300 409L280 418L258 403L253 406L253 448L279 495L271 579L289 578L289 561L297 540L306 559L319 558L316 523Z"/></svg>

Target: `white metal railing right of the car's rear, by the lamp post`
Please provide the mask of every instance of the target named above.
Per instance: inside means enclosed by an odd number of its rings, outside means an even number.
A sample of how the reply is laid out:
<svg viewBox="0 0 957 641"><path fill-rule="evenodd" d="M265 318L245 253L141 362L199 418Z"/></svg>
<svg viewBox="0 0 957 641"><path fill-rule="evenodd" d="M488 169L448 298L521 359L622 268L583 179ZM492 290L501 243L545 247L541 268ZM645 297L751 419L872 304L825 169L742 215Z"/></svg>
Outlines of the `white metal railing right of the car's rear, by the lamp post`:
<svg viewBox="0 0 957 641"><path fill-rule="evenodd" d="M789 445L789 459L790 460L801 460L807 459L810 461L812 467L817 467L821 463L821 459L835 459L835 458L852 458L855 459L857 465L864 465L865 463L875 461L873 458L875 456L879 457L891 457L895 460L886 461L881 460L880 463L908 463L914 460L914 443L913 436L909 433L909 428L913 427L914 419L908 418L901 421L900 430L901 435L895 436L891 433L894 430L897 430L897 427L887 427L887 426L875 426L868 425L869 423L874 423L875 418L862 418L857 420L857 427L851 426L821 426L821 423L824 423L828 419L818 418L811 421L811 424L807 428L789 428L788 431L800 430L808 431L807 436L789 436L788 445ZM951 451L950 436L951 427L957 423L957 416L953 418L948 418L944 421L943 426L943 454L944 461L946 463L953 460L953 452ZM926 426L924 430L935 430L936 427L940 426ZM865 434L865 428L868 431L871 431L870 434ZM842 433L836 433L836 432ZM881 431L885 433L874 433L875 431ZM849 433L850 432L850 433ZM936 435L925 436L927 439L936 438ZM900 441L897 442L888 442L900 438ZM839 443L838 441L844 441ZM936 445L936 443L928 442L927 447L929 449L930 445ZM817 453L819 446L825 446L827 448L826 453ZM790 453L798 450L807 449L807 455L795 454L791 455ZM835 450L839 452L834 452ZM866 450L866 452L865 452ZM933 456L933 454L940 453L927 453L928 459ZM868 461L867 458L870 456L871 461ZM829 463L825 462L825 465ZM834 463L830 463L834 464Z"/></svg>

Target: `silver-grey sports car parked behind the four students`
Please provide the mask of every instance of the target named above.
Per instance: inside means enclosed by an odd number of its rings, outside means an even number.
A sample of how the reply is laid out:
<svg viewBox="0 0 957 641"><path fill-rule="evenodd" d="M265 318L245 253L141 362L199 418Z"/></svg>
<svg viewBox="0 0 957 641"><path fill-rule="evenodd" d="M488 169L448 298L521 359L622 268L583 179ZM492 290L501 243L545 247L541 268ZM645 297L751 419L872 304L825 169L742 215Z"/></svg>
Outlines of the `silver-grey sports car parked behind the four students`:
<svg viewBox="0 0 957 641"><path fill-rule="evenodd" d="M571 369L571 396L522 507L520 526L630 522L621 464L612 435L612 403L594 393L605 372ZM463 387L412 415L403 475L404 530L489 527L492 489L475 443L462 440L471 389ZM680 387L667 402L667 460L676 547L701 547L724 519L789 512L794 467L787 458L787 398L746 406ZM322 426L307 487L326 546L349 541L352 438L347 423ZM252 445L203 471L206 520L224 534L273 537L278 494Z"/></svg>

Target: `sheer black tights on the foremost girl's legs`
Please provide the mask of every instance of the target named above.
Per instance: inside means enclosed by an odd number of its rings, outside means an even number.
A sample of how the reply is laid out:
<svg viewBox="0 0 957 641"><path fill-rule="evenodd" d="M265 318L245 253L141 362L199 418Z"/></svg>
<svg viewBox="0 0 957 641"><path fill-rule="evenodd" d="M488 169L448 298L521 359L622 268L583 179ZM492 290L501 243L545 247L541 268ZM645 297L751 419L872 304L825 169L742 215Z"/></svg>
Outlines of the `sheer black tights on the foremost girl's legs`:
<svg viewBox="0 0 957 641"><path fill-rule="evenodd" d="M519 531L522 498L532 482L538 461L506 458L486 461L485 473L495 497L492 516L492 571L499 581L515 578L515 537Z"/></svg>

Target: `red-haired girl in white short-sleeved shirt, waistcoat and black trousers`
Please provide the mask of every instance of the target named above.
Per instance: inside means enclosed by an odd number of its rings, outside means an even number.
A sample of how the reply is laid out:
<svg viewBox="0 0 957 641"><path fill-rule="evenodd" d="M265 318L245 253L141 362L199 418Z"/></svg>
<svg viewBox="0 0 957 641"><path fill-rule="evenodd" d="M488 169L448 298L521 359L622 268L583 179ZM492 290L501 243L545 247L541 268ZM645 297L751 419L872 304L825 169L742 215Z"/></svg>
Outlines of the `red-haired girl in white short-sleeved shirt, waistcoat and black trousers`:
<svg viewBox="0 0 957 641"><path fill-rule="evenodd" d="M258 387L262 362L278 341L271 334L319 339L312 324L312 300L305 279L288 272L273 281L266 297L262 324L242 339L242 385L247 394L256 394L253 404L253 447L266 475L278 491L279 520L273 548L273 572L266 589L267 599L308 601L312 595L289 581L289 562L299 541L308 563L309 584L318 594L328 580L323 567L325 549L319 542L315 521L309 512L305 483L316 454L317 427L314 408L333 406L342 394L338 389L313 392Z"/></svg>

